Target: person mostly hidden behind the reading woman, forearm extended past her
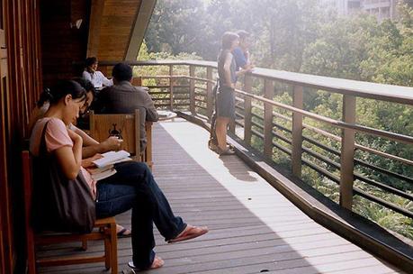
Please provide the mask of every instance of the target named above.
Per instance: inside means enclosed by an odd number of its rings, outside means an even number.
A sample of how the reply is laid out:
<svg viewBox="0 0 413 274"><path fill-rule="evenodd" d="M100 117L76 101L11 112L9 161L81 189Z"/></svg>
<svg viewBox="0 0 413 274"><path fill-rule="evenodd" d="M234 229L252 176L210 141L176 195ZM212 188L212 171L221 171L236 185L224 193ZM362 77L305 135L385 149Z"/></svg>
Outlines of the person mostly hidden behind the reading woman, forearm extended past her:
<svg viewBox="0 0 413 274"><path fill-rule="evenodd" d="M85 88L86 90L86 97L85 97L85 104L80 109L80 114L87 113L87 110L94 102L95 97L95 90L94 85L84 78L75 78L74 79L81 87ZM49 89L46 92L43 92L41 96L47 95ZM49 110L49 100L42 98L40 96L40 100L34 110L31 113L30 122L29 122L29 132L32 131L34 124L41 118L44 117L44 114ZM107 151L117 151L121 147L122 140L119 140L117 137L109 137L103 142L97 142L92 137L87 135L84 131L77 128L73 123L70 123L68 127L76 132L79 136L82 137L83 140L83 148L82 148L82 158L86 159L89 157L94 156L96 153L104 153ZM131 232L129 229L124 228L120 224L116 224L116 233L118 237L130 237Z"/></svg>

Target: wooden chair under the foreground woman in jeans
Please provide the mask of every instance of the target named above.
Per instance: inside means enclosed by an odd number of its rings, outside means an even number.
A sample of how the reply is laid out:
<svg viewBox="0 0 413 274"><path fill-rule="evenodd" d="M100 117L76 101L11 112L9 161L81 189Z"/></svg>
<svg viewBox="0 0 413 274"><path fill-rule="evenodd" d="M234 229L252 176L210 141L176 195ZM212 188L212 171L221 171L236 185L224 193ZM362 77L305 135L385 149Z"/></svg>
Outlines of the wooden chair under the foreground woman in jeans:
<svg viewBox="0 0 413 274"><path fill-rule="evenodd" d="M35 274L37 267L62 266L70 264L94 263L104 261L106 270L112 269L112 274L118 273L118 250L116 223L113 217L98 219L94 224L94 231L87 234L75 233L34 233L31 229L31 157L29 151L22 151L24 212L26 226L26 255L28 261L28 273ZM65 256L36 259L36 246L56 244L62 242L83 242L103 240L104 254L101 256Z"/></svg>

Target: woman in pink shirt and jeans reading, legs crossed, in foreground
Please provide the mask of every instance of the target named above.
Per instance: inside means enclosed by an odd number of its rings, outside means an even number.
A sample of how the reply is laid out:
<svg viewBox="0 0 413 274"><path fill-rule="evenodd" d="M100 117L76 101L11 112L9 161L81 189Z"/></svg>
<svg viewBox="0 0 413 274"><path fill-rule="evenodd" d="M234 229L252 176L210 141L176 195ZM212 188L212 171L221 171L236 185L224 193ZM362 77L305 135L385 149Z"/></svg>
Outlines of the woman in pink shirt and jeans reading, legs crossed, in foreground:
<svg viewBox="0 0 413 274"><path fill-rule="evenodd" d="M84 175L95 200L97 217L119 215L132 208L132 251L129 266L132 269L157 269L164 261L156 256L153 224L157 225L166 242L193 239L208 232L207 227L185 224L175 216L162 190L157 187L150 169L135 161L115 165L118 171L97 184L82 167L82 138L67 124L76 122L80 108L85 104L85 89L75 81L60 81L41 97L50 106L31 132L30 150L39 155L42 136L47 152L54 157L67 179ZM45 130L44 135L43 130Z"/></svg>

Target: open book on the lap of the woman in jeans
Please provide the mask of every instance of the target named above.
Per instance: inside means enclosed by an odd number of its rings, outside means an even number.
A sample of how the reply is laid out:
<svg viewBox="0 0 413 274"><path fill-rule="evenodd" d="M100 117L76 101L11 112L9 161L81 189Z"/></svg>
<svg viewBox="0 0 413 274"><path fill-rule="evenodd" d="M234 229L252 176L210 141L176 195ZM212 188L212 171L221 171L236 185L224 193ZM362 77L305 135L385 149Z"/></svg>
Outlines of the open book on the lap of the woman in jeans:
<svg viewBox="0 0 413 274"><path fill-rule="evenodd" d="M94 160L96 166L94 169L89 169L94 180L98 181L103 178L108 178L116 173L113 165L122 161L131 160L128 151L109 151L102 154L103 158Z"/></svg>

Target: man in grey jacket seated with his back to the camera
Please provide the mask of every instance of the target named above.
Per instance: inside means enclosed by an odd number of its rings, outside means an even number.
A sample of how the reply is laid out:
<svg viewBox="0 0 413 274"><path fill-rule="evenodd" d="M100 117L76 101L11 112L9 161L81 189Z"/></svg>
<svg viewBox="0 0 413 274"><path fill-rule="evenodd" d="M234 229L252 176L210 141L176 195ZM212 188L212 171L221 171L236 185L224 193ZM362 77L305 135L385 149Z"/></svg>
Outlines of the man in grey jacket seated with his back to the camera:
<svg viewBox="0 0 413 274"><path fill-rule="evenodd" d="M112 69L113 86L100 92L95 112L100 114L134 114L139 109L140 151L145 151L147 133L145 121L156 122L159 119L157 109L148 89L134 87L131 84L132 68L128 64L118 63Z"/></svg>

